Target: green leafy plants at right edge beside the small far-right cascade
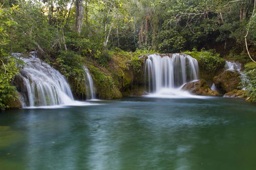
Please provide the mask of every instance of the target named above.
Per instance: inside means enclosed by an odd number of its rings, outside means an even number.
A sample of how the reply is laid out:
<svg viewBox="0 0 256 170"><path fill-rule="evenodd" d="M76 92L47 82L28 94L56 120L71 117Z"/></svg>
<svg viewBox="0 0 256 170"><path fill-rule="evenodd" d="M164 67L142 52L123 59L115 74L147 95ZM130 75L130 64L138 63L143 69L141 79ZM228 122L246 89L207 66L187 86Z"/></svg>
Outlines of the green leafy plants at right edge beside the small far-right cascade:
<svg viewBox="0 0 256 170"><path fill-rule="evenodd" d="M242 85L246 88L246 95L250 101L256 102L256 69L245 71L244 74L246 78L242 80Z"/></svg>

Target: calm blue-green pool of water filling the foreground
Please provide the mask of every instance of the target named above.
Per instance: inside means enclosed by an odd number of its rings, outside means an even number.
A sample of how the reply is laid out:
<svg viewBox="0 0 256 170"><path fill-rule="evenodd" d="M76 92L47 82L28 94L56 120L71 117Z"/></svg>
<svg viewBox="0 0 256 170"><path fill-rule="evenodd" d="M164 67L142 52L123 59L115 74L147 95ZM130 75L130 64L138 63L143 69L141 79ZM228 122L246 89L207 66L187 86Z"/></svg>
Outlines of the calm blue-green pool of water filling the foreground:
<svg viewBox="0 0 256 170"><path fill-rule="evenodd" d="M256 105L122 98L0 112L1 170L255 170Z"/></svg>

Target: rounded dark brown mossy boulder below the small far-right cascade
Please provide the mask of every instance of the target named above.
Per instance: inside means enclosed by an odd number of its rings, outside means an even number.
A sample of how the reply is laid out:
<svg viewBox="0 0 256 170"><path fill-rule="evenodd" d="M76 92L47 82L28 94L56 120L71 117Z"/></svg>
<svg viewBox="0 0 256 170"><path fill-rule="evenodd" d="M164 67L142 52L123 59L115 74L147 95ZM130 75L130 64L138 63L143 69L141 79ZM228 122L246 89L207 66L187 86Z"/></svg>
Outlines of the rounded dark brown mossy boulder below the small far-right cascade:
<svg viewBox="0 0 256 170"><path fill-rule="evenodd" d="M227 93L234 89L237 89L241 79L240 74L237 71L225 71L224 73L215 76L213 81L215 86L221 93Z"/></svg>

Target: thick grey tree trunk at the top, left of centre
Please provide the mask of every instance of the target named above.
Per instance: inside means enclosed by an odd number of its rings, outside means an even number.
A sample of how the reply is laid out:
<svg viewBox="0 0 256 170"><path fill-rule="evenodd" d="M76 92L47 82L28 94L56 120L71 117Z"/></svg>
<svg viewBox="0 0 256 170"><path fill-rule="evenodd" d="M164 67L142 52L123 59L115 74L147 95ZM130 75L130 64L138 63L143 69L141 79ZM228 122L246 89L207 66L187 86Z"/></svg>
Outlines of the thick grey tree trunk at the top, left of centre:
<svg viewBox="0 0 256 170"><path fill-rule="evenodd" d="M82 29L82 21L83 21L83 0L75 1L75 31L79 34Z"/></svg>

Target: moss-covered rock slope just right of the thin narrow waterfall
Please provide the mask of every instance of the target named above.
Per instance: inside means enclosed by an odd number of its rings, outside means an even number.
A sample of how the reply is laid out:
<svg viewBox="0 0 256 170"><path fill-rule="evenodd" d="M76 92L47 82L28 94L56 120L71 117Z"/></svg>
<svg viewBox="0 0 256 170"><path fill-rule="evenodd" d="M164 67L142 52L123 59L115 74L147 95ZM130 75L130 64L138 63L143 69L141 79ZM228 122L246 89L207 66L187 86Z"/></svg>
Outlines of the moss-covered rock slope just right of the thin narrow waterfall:
<svg viewBox="0 0 256 170"><path fill-rule="evenodd" d="M115 99L122 97L111 76L105 75L99 68L88 66L96 84L99 99Z"/></svg>

